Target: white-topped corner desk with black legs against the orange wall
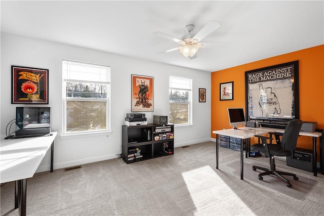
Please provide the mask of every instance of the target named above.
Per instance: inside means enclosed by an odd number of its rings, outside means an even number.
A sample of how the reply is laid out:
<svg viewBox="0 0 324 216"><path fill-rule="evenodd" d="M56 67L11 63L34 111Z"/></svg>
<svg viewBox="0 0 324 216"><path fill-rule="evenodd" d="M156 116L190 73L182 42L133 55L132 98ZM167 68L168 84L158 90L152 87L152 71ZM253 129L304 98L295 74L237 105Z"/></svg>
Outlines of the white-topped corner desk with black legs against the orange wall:
<svg viewBox="0 0 324 216"><path fill-rule="evenodd" d="M241 129L241 130L240 130ZM247 147L250 145L250 138L254 137L254 135L262 135L262 134L268 134L268 133L284 133L284 129L277 129L277 128L269 128L269 127L240 127L240 129L223 129L219 131L213 131L213 134L216 134L216 169L218 169L218 135L225 135L229 137L235 137L241 139L241 161L240 161L240 172L241 172L241 180L243 180L243 169L244 169L244 153L243 153L243 140L247 140ZM317 169L316 169L316 163L317 163L317 152L316 152L316 137L321 137L322 134L318 132L314 133L307 133L307 132L300 132L300 136L307 136L313 138L313 154L314 154L314 160L313 160L313 167L314 167L314 176L317 176ZM321 140L320 140L320 148L322 146ZM248 157L248 150L246 150L246 157ZM322 172L323 169L322 168ZM322 173L324 175L324 173Z"/></svg>

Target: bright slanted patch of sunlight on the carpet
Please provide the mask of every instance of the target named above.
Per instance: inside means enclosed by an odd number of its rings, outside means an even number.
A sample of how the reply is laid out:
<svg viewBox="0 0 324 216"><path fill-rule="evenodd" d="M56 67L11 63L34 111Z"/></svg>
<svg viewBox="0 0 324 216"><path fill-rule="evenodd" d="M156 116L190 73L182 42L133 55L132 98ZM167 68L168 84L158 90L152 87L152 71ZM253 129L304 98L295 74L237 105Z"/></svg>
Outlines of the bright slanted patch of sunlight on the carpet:
<svg viewBox="0 0 324 216"><path fill-rule="evenodd" d="M252 210L226 185L210 166L203 166L182 173L195 215L255 215Z"/></svg>

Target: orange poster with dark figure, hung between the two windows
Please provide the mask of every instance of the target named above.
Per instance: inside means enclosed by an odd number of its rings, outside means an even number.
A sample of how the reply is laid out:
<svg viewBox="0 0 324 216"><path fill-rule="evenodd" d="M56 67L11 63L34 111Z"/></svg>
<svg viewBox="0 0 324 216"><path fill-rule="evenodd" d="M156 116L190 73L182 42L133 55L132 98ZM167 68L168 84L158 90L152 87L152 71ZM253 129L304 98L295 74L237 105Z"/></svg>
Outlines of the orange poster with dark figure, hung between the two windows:
<svg viewBox="0 0 324 216"><path fill-rule="evenodd" d="M132 112L153 112L154 78L132 74Z"/></svg>

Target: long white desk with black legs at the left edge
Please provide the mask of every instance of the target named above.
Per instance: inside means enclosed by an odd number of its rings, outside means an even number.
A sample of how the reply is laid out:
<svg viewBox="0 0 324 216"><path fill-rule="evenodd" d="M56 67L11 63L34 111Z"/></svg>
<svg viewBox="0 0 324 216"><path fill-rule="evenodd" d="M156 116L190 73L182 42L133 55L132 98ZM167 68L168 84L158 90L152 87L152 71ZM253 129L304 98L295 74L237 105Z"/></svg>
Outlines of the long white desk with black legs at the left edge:
<svg viewBox="0 0 324 216"><path fill-rule="evenodd" d="M15 208L26 215L27 179L33 177L39 164L51 147L51 172L53 171L53 136L2 140L0 144L0 183L16 181Z"/></svg>

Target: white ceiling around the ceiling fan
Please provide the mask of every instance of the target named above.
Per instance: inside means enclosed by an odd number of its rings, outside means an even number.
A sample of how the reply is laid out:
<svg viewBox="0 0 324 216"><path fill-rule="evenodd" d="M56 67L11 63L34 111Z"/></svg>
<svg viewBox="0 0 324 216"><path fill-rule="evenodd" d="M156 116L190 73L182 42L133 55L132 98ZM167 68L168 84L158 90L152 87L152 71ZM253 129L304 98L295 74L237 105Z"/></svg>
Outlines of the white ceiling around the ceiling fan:
<svg viewBox="0 0 324 216"><path fill-rule="evenodd" d="M203 71L324 44L323 1L1 1L1 31ZM188 60L174 41L185 26L221 27Z"/></svg>

